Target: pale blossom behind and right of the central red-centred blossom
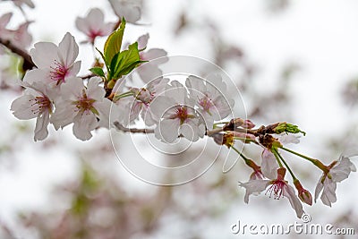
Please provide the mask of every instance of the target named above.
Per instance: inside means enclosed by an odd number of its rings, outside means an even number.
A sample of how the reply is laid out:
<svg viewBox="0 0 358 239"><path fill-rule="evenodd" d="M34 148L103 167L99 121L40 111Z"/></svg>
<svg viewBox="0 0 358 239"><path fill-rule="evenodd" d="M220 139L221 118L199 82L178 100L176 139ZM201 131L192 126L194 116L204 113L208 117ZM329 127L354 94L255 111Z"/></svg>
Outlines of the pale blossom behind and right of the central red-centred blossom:
<svg viewBox="0 0 358 239"><path fill-rule="evenodd" d="M209 130L213 128L214 121L222 120L231 113L234 100L224 97L226 83L220 75L211 74L205 81L196 76L189 76L185 85L190 91L191 98L196 100L198 111Z"/></svg>

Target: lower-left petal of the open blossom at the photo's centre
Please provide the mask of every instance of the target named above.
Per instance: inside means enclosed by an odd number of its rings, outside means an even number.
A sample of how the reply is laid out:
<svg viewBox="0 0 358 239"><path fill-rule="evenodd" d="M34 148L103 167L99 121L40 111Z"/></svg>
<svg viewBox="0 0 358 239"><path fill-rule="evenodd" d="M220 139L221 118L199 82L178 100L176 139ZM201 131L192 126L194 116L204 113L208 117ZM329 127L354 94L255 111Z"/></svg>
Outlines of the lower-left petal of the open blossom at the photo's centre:
<svg viewBox="0 0 358 239"><path fill-rule="evenodd" d="M162 120L158 123L155 129L155 136L158 140L165 141L167 143L174 142L178 136L180 122L179 120Z"/></svg>

